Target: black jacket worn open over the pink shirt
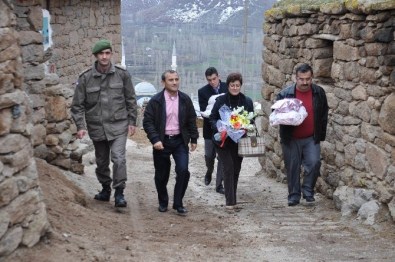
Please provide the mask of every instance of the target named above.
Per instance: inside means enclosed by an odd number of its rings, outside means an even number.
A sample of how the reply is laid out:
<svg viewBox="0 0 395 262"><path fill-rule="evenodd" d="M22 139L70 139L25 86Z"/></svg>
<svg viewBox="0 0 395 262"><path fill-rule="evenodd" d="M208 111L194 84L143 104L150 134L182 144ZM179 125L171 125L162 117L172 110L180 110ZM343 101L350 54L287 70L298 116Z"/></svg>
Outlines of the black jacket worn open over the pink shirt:
<svg viewBox="0 0 395 262"><path fill-rule="evenodd" d="M184 143L187 146L189 142L197 144L199 131L196 126L196 112L192 100L181 91L178 91L178 98L178 121ZM164 140L166 128L164 89L149 100L144 110L143 127L152 144Z"/></svg>

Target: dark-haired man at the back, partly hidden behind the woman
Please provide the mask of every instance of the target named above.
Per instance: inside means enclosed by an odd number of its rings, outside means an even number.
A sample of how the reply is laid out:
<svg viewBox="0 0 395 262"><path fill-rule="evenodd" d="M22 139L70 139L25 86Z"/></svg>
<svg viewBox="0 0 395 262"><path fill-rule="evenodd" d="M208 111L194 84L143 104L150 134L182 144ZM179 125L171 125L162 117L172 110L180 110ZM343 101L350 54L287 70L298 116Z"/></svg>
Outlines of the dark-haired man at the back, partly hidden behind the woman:
<svg viewBox="0 0 395 262"><path fill-rule="evenodd" d="M216 68L207 68L205 76L208 84L198 90L200 111L206 111L210 97L212 97L213 95L226 93L228 90L226 83L221 82ZM208 186L211 183L212 173L214 171L215 157L217 155L215 145L212 140L213 131L211 130L210 120L208 117L203 118L203 138L204 160L207 167L206 175L204 176L204 183L206 186ZM224 186L222 185L223 170L221 165L222 161L218 158L215 190L220 194L224 194L225 190Z"/></svg>

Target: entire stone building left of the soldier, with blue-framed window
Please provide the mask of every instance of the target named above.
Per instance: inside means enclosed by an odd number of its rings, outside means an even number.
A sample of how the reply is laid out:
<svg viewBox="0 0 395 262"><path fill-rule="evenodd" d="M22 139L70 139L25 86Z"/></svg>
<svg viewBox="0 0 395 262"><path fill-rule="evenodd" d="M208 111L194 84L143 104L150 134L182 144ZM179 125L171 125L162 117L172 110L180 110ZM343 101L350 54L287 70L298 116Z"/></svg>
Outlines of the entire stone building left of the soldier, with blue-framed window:
<svg viewBox="0 0 395 262"><path fill-rule="evenodd" d="M34 157L83 172L69 107L100 38L119 63L120 1L0 1L0 260L50 227Z"/></svg>

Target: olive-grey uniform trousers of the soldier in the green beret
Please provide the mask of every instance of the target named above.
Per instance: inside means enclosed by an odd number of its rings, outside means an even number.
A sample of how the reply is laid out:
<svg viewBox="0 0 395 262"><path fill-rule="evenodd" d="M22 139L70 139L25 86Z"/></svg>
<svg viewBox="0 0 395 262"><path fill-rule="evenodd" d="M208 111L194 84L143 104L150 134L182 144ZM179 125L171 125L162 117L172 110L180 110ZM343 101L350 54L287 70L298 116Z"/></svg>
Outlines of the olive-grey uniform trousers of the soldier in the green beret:
<svg viewBox="0 0 395 262"><path fill-rule="evenodd" d="M102 185L111 185L113 188L125 188L126 175L126 139L120 136L111 141L93 141L96 156L96 177ZM110 156L113 176L110 172Z"/></svg>

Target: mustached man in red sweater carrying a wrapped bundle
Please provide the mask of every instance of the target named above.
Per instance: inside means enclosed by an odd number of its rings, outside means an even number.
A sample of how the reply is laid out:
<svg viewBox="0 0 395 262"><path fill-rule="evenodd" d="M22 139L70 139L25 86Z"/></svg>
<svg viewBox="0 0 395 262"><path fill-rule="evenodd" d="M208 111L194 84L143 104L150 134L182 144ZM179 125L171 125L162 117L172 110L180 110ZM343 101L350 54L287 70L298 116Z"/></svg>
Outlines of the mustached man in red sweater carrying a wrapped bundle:
<svg viewBox="0 0 395 262"><path fill-rule="evenodd" d="M313 69L302 64L296 68L296 83L283 89L277 100L298 98L307 111L299 126L280 125L281 146L287 170L288 206L299 204L301 194L314 202L314 187L320 175L320 141L325 140L328 124L328 102L322 87L313 82ZM300 170L304 176L300 186Z"/></svg>

